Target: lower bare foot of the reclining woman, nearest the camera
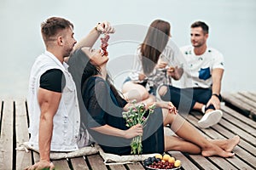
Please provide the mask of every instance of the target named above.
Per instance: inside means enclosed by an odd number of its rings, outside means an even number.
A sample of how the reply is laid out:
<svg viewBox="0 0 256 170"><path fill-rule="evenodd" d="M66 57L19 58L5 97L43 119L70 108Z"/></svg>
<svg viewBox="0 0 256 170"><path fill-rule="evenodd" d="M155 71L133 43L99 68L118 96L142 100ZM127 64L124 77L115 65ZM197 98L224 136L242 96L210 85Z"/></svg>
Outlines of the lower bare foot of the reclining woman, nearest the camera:
<svg viewBox="0 0 256 170"><path fill-rule="evenodd" d="M222 150L218 145L211 144L206 149L202 149L202 156L221 156L221 157L232 157L235 156L235 153L231 153L225 150Z"/></svg>

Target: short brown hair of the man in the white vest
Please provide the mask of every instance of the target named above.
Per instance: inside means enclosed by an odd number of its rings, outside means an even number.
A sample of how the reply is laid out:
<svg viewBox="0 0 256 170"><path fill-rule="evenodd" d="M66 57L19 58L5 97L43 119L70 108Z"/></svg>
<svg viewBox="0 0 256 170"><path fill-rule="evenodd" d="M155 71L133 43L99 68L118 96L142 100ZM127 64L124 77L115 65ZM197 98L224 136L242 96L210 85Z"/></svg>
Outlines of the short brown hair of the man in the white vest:
<svg viewBox="0 0 256 170"><path fill-rule="evenodd" d="M70 21L60 17L51 17L45 20L41 24L41 33L44 43L55 40L55 36L60 30L65 30L70 27L73 28L73 24Z"/></svg>

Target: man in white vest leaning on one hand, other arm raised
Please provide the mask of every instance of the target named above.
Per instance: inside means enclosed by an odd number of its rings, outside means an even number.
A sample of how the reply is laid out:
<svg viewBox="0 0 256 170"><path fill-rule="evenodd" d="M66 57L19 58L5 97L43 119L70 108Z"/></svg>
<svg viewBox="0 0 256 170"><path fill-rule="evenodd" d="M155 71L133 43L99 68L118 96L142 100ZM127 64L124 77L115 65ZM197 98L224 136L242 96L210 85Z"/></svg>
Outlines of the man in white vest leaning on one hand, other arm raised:
<svg viewBox="0 0 256 170"><path fill-rule="evenodd" d="M76 44L70 21L51 17L42 23L41 33L46 50L32 65L28 92L29 143L39 150L40 161L27 169L53 169L54 164L49 161L50 150L78 150L81 133L84 136L81 143L90 144L88 133L79 132L77 90L65 61L74 49L92 47L101 33L113 31L108 22L99 23Z"/></svg>

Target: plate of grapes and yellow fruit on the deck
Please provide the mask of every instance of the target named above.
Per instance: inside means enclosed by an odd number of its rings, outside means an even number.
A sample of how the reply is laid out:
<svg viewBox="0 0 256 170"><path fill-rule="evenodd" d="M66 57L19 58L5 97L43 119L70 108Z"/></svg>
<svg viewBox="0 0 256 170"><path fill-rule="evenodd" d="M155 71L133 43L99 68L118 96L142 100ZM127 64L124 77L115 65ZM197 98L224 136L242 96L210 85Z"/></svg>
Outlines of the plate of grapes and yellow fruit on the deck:
<svg viewBox="0 0 256 170"><path fill-rule="evenodd" d="M156 154L155 156L148 157L143 161L143 166L147 169L161 170L175 170L181 167L181 161L176 160L174 157L168 154Z"/></svg>

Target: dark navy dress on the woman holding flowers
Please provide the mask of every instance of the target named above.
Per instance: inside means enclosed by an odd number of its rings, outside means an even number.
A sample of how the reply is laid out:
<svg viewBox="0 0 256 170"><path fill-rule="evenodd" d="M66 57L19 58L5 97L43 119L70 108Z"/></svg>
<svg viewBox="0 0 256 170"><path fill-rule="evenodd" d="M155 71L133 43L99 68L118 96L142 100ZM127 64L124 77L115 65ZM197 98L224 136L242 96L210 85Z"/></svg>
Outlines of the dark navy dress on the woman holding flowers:
<svg viewBox="0 0 256 170"><path fill-rule="evenodd" d="M131 139L124 139L91 130L108 124L111 127L126 130L125 119L122 116L126 101L117 101L108 83L101 77L90 77L82 85L82 96L86 108L86 126L96 143L100 144L106 153L117 155L131 154ZM160 108L154 110L143 128L143 154L162 153L164 151L164 132Z"/></svg>

